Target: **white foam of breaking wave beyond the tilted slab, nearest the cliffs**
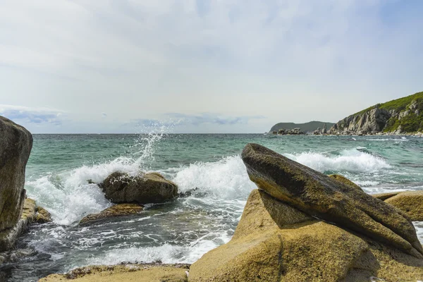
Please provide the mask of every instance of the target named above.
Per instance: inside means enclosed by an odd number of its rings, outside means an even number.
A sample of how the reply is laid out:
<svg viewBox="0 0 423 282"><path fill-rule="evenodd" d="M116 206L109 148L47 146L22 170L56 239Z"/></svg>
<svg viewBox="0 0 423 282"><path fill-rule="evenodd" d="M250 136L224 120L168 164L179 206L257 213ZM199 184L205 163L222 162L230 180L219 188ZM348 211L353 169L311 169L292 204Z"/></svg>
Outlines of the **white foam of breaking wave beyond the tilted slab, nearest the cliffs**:
<svg viewBox="0 0 423 282"><path fill-rule="evenodd" d="M285 154L286 157L298 161L317 171L341 171L350 173L372 173L391 166L381 157L376 157L357 149L345 149L338 156L317 152L301 154Z"/></svg>

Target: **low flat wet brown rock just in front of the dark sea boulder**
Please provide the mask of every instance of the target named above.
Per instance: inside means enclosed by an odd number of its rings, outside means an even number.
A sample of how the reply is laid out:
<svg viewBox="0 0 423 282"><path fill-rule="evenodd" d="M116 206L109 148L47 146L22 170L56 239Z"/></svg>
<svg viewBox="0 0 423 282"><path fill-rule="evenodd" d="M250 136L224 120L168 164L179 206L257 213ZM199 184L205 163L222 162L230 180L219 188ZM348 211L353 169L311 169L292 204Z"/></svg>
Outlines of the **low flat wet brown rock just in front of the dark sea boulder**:
<svg viewBox="0 0 423 282"><path fill-rule="evenodd" d="M89 214L80 221L80 225L86 225L108 219L116 216L127 216L129 214L137 214L143 209L140 204L116 204L113 207L108 207L98 214Z"/></svg>

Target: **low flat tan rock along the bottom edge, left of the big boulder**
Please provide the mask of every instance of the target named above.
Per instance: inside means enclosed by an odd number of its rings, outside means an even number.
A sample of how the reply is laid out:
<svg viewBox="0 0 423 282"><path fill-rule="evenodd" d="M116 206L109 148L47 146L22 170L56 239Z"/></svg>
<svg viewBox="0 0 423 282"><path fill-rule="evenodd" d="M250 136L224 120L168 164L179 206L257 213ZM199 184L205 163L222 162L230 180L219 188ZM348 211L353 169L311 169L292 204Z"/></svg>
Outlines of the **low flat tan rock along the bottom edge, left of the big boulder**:
<svg viewBox="0 0 423 282"><path fill-rule="evenodd" d="M51 274L39 282L187 282L188 267L187 264L86 266L68 274Z"/></svg>

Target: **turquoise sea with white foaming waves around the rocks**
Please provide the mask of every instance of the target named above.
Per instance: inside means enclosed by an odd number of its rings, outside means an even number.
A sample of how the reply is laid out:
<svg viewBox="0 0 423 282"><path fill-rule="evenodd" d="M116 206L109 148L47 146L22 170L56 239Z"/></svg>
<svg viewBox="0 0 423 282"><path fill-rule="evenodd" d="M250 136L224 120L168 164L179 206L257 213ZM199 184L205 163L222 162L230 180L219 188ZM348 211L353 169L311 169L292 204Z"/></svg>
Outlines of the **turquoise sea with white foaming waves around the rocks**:
<svg viewBox="0 0 423 282"><path fill-rule="evenodd" d="M367 193L423 190L423 138L264 134L34 135L27 196L51 213L18 240L27 255L0 266L0 281L37 281L80 266L192 264L231 240L256 186L240 154L258 143L321 173L341 174ZM140 214L78 226L112 204L95 184L110 173L158 171L185 197ZM423 222L414 222L423 242Z"/></svg>

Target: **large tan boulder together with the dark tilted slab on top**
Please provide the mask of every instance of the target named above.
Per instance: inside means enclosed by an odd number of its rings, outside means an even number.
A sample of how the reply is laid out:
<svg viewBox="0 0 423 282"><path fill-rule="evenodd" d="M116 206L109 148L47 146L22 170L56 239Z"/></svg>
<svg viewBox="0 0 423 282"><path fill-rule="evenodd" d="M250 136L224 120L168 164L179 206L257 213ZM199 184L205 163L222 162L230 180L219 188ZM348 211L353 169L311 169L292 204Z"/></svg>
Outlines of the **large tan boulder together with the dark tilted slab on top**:
<svg viewBox="0 0 423 282"><path fill-rule="evenodd" d="M258 190L228 243L188 281L419 281L423 249L399 209L257 144L242 154Z"/></svg>

